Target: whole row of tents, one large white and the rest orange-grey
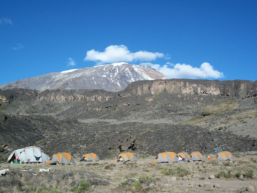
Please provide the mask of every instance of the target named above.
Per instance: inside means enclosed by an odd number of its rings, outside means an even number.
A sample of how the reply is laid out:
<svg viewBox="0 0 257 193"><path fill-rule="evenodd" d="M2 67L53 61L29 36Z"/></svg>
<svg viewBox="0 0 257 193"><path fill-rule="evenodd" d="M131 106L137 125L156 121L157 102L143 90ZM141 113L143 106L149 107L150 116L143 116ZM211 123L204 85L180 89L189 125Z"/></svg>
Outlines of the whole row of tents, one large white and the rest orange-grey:
<svg viewBox="0 0 257 193"><path fill-rule="evenodd" d="M35 162L45 162L46 164L71 164L75 163L74 158L66 152L54 154L51 158L45 154L41 148L30 146L22 149L17 149L8 157L7 162L18 158L21 162L35 163ZM233 156L228 151L216 151L216 156L213 160L233 160ZM187 152L180 152L176 154L175 152L163 152L159 153L158 156L153 160L154 163L168 163L168 162L178 162L178 161L202 161L203 156L200 152L192 152L190 155ZM99 161L99 158L94 153L88 153L82 155L82 158L78 161ZM114 162L119 161L137 161L136 156L131 152L120 153Z"/></svg>

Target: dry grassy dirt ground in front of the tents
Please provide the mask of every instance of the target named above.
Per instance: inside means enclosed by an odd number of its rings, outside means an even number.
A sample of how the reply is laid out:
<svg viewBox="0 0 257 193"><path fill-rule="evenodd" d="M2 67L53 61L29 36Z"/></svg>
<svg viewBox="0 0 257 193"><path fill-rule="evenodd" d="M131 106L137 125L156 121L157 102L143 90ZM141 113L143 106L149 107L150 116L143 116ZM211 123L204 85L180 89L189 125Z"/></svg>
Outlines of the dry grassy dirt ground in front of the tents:
<svg viewBox="0 0 257 193"><path fill-rule="evenodd" d="M77 161L76 165L2 164L0 170L9 170L0 176L0 192L31 192L29 185L39 186L43 183L67 192L80 178L89 182L89 192L246 192L248 186L253 186L254 192L257 192L257 152L237 153L234 156L233 161L212 161L204 156L204 161L157 164L152 163L155 157L139 157L137 162L118 163L110 159L99 162ZM163 172L167 168L178 167L185 168L188 173L183 176ZM39 172L40 168L50 168L50 171ZM220 171L230 175L217 177ZM242 174L241 177L239 174ZM141 190L137 191L131 184L120 185L123 179L146 175L156 179L152 187L143 184ZM210 175L215 177L210 179ZM20 183L8 186L5 181L12 183L10 177L20 180Z"/></svg>

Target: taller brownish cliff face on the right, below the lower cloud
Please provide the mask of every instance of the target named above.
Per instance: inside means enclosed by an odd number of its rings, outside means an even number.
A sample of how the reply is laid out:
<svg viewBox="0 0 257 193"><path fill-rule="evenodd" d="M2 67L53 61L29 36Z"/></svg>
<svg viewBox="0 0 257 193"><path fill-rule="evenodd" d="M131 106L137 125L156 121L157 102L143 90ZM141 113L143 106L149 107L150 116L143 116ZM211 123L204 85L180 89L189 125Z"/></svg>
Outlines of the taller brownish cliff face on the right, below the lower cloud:
<svg viewBox="0 0 257 193"><path fill-rule="evenodd" d="M169 79L154 81L138 81L130 84L125 92L128 94L144 94L166 91L177 94L195 95L227 95L235 97L250 97L257 94L257 82L248 80L192 80Z"/></svg>

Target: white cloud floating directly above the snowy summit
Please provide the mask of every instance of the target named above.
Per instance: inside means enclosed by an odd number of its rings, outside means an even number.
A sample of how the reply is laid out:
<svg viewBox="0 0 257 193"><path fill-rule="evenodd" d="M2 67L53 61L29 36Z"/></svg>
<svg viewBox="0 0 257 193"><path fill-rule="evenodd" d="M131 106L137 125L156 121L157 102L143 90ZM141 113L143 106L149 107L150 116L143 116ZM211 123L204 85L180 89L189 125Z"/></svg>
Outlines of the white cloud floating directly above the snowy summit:
<svg viewBox="0 0 257 193"><path fill-rule="evenodd" d="M87 51L84 60L95 61L100 65L114 62L153 61L164 56L163 53L159 52L138 51L132 53L124 45L110 45L105 48L104 52L94 49Z"/></svg>

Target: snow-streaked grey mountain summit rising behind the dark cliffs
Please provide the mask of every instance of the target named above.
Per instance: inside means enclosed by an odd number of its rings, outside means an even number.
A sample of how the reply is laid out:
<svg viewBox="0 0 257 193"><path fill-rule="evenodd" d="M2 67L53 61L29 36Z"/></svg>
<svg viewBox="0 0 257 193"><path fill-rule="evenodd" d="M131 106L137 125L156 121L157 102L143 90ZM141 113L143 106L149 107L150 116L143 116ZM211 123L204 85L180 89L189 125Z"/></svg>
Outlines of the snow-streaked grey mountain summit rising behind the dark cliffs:
<svg viewBox="0 0 257 193"><path fill-rule="evenodd" d="M123 90L137 80L168 79L161 72L125 62L48 73L0 85L1 89L103 89Z"/></svg>

